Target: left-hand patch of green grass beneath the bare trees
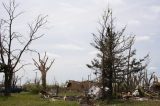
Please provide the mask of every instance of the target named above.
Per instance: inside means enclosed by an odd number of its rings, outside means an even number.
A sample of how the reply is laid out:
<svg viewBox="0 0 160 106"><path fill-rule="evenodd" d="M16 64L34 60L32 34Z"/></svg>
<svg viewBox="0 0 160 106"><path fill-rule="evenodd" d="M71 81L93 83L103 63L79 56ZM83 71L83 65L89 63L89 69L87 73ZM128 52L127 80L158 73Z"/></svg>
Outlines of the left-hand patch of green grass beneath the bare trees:
<svg viewBox="0 0 160 106"><path fill-rule="evenodd" d="M30 93L13 94L11 97L0 97L0 106L78 106L74 101L50 101Z"/></svg>

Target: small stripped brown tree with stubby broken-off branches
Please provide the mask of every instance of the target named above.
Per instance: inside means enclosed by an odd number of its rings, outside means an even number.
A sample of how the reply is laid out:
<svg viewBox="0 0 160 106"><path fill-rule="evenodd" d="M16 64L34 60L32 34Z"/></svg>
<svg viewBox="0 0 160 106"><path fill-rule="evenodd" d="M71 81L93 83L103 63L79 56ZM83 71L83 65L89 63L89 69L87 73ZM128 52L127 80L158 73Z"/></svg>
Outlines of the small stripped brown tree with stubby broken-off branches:
<svg viewBox="0 0 160 106"><path fill-rule="evenodd" d="M48 70L51 68L52 64L54 63L54 60L52 60L50 65L47 67L46 64L48 61L48 57L45 52L45 55L43 58L41 58L40 54L38 53L38 61L36 61L35 59L33 59L33 61L34 61L34 65L41 72L42 87L43 87L43 90L46 90L46 75Z"/></svg>

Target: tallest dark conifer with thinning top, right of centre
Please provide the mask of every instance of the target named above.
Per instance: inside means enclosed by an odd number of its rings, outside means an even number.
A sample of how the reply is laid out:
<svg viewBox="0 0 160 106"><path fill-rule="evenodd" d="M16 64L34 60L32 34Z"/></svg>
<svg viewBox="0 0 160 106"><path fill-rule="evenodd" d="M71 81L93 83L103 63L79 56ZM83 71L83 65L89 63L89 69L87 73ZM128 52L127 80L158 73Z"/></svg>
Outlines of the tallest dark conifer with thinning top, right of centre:
<svg viewBox="0 0 160 106"><path fill-rule="evenodd" d="M124 37L125 28L116 31L113 24L112 11L108 9L102 16L99 34L93 34L94 42L91 43L99 53L98 59L94 59L89 68L99 70L101 73L102 98L111 99L113 96L113 83L116 83L117 71L123 65L123 52L128 49L127 41L130 37ZM121 70L120 70L121 71ZM108 87L108 93L105 88Z"/></svg>

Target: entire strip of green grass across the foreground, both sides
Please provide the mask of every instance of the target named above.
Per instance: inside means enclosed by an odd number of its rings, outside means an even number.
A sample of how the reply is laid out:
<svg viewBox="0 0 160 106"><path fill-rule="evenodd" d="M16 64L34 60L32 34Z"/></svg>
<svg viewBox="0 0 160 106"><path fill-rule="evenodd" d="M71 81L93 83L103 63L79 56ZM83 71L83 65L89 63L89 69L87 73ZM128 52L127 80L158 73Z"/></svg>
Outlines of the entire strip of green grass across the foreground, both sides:
<svg viewBox="0 0 160 106"><path fill-rule="evenodd" d="M74 101L50 101L31 93L13 94L11 97L0 97L0 106L79 106ZM160 101L112 101L110 104L98 101L97 106L160 106Z"/></svg>

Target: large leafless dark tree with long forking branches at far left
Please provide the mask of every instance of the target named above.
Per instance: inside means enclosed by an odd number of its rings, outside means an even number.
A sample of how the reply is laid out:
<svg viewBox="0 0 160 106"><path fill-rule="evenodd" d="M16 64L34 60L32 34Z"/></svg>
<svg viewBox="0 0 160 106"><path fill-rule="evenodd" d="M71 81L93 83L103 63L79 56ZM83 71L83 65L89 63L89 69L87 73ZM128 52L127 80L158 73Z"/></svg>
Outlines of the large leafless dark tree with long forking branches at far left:
<svg viewBox="0 0 160 106"><path fill-rule="evenodd" d="M19 32L14 31L14 22L22 12L17 13L18 4L10 0L8 4L3 3L3 7L8 15L7 19L0 19L0 72L5 75L5 95L10 95L13 73L22 69L20 60L24 52L31 51L29 46L34 40L42 35L36 35L42 26L47 22L46 16L38 16L34 23L28 24L28 38Z"/></svg>

